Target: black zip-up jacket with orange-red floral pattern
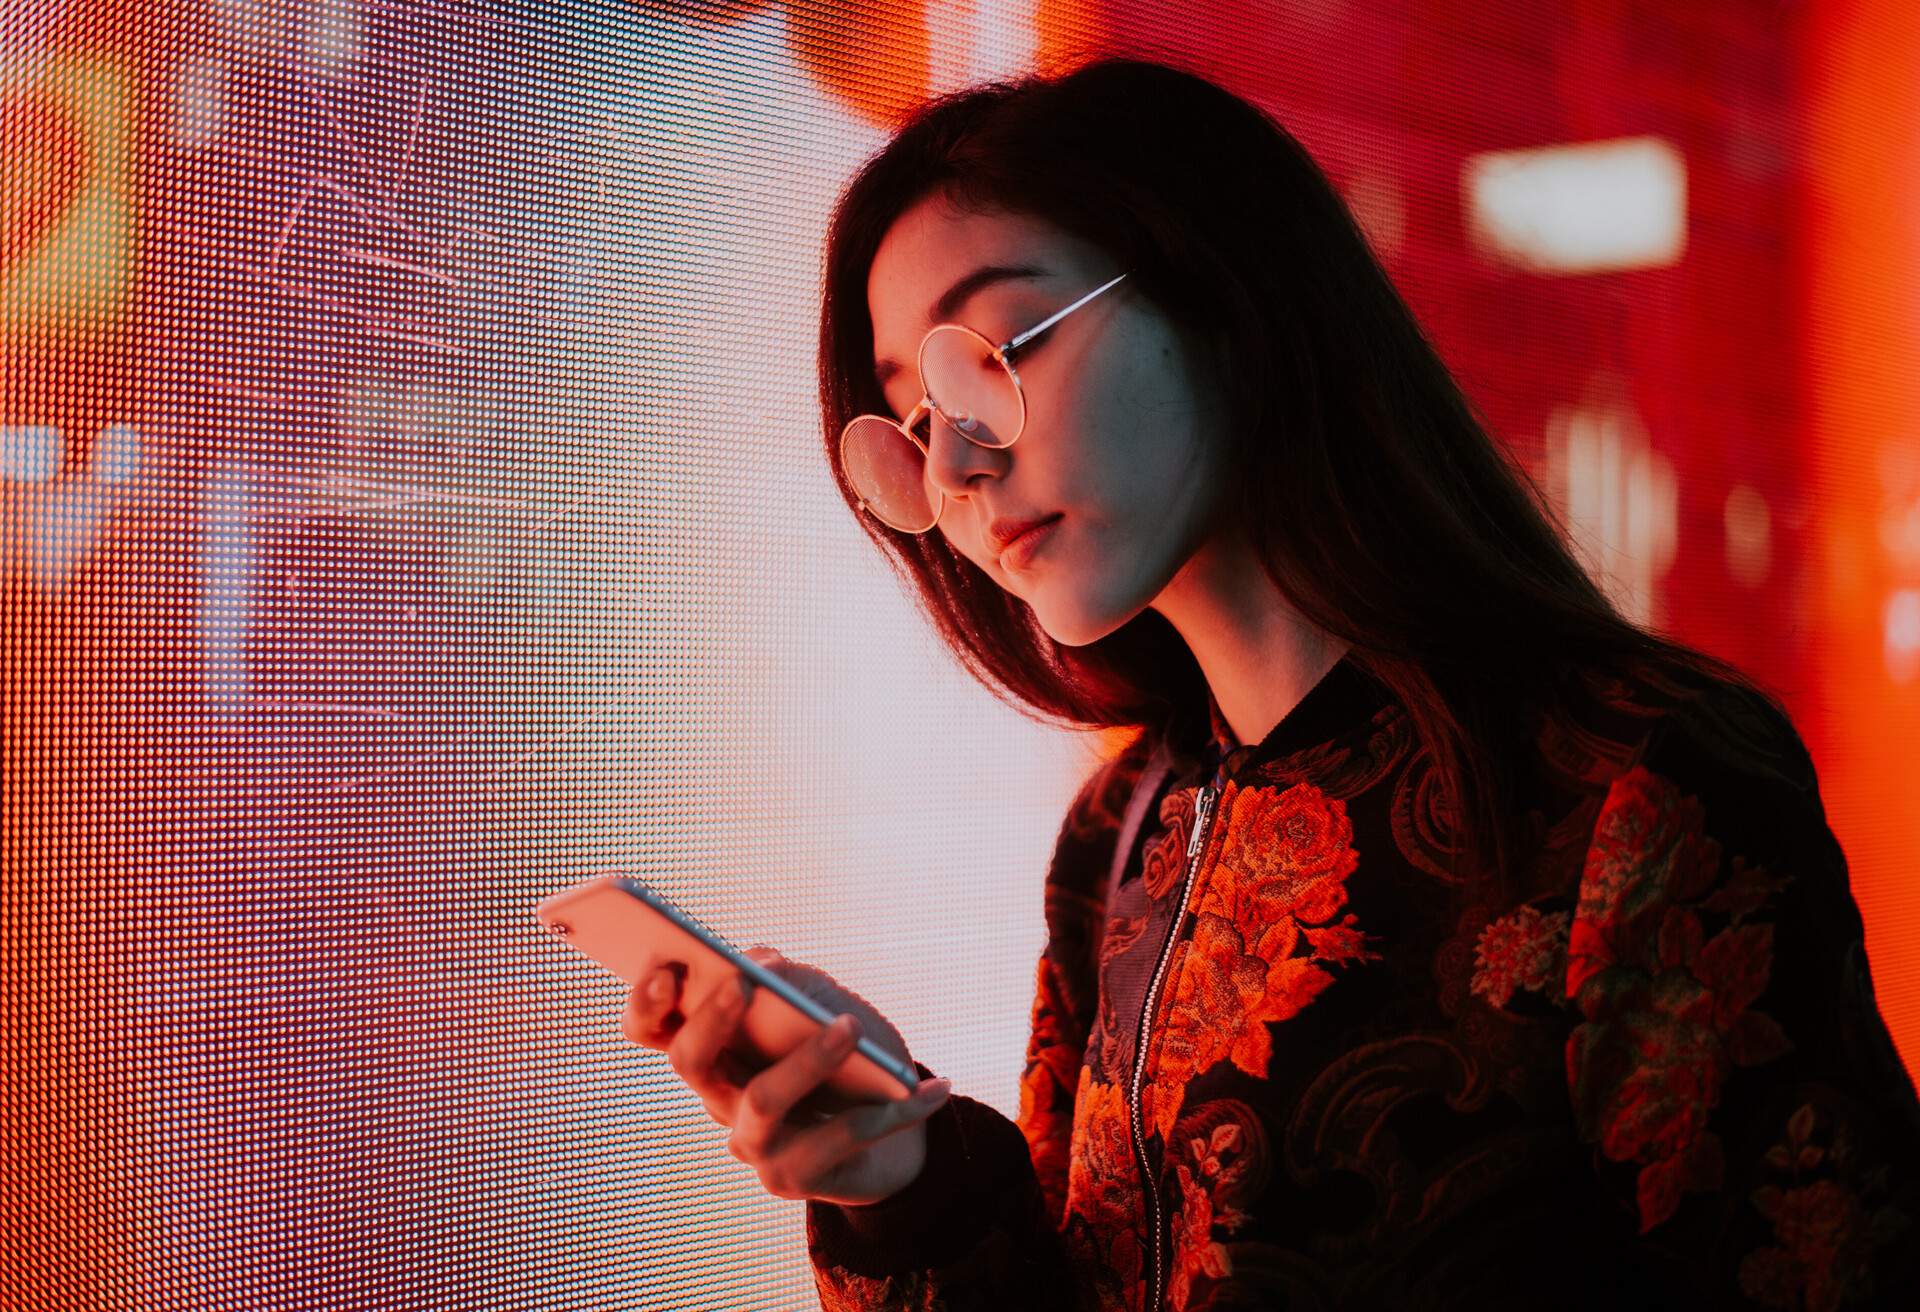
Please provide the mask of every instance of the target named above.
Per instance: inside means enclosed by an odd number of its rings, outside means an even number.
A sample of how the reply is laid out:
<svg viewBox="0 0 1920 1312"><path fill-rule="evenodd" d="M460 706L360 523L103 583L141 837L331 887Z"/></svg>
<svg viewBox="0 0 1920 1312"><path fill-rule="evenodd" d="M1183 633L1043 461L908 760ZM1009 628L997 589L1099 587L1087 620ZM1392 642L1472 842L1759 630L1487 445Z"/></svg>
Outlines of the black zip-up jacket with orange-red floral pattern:
<svg viewBox="0 0 1920 1312"><path fill-rule="evenodd" d="M1104 765L1018 1122L950 1095L912 1185L808 1203L822 1306L1920 1308L1920 1101L1799 736L1599 692L1532 720L1517 903L1446 874L1352 655L1254 747L1212 707Z"/></svg>

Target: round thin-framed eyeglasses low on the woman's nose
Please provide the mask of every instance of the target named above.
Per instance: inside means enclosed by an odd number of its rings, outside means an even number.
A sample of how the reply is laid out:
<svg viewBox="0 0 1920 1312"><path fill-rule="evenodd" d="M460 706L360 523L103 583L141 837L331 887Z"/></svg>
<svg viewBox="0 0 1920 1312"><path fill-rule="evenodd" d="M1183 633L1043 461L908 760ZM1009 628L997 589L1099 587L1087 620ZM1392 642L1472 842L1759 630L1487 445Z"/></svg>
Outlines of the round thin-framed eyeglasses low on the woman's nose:
<svg viewBox="0 0 1920 1312"><path fill-rule="evenodd" d="M929 328L914 359L920 400L906 419L856 415L841 428L841 469L860 509L900 532L933 528L947 496L927 482L927 442L914 432L922 415L929 438L931 425L943 423L973 446L1014 446L1027 426L1027 394L1014 373L1014 352L1125 277L1108 279L1000 346L958 323Z"/></svg>

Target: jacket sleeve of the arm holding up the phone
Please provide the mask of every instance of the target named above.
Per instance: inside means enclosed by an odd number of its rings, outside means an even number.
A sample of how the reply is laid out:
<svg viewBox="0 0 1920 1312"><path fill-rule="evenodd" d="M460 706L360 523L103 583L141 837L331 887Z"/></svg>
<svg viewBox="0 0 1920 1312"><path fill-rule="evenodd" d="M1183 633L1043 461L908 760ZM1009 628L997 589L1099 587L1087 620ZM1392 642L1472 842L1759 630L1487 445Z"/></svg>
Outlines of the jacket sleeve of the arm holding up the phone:
<svg viewBox="0 0 1920 1312"><path fill-rule="evenodd" d="M1062 1306L1073 1287L1062 1243L1068 1145L1129 765L1123 755L1081 786L1054 843L1018 1122L950 1093L925 1122L927 1160L910 1185L868 1206L808 1201L806 1249L828 1312L1008 1312Z"/></svg>

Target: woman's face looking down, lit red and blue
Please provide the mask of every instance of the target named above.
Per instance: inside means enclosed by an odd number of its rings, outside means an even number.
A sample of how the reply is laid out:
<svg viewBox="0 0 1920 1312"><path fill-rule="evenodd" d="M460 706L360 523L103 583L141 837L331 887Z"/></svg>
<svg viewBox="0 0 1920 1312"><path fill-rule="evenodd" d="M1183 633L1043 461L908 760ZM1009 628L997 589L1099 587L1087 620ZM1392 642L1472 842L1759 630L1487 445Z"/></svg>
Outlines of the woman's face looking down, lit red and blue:
<svg viewBox="0 0 1920 1312"><path fill-rule="evenodd" d="M1098 248L1041 219L962 215L939 196L904 211L868 271L874 361L895 419L920 400L914 359L931 307L981 265L1027 275L985 284L945 321L995 344L1121 273ZM887 365L897 365L891 373ZM1123 280L1014 353L1027 423L1010 448L947 425L929 438L927 482L956 551L1033 607L1069 647L1114 632L1165 590L1215 524L1217 396L1188 336ZM1004 565L989 524L1058 515Z"/></svg>

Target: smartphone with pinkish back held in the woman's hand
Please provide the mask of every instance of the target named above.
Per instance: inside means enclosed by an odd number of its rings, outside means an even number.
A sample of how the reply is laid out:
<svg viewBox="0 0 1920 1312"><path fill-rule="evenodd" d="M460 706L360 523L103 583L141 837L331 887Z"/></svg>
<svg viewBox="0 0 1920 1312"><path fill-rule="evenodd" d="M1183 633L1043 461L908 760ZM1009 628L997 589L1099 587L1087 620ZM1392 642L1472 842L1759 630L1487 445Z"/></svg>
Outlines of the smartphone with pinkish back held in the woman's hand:
<svg viewBox="0 0 1920 1312"><path fill-rule="evenodd" d="M743 1057L755 1068L772 1066L833 1024L837 1014L745 957L657 889L624 874L605 874L555 893L534 907L534 916L628 987L639 984L647 962L682 962L687 974L680 985L680 1010L687 1016L716 987L732 987L735 970L745 974L756 987L732 1049L745 1049ZM862 1033L824 1085L849 1101L893 1103L920 1087L920 1072Z"/></svg>

